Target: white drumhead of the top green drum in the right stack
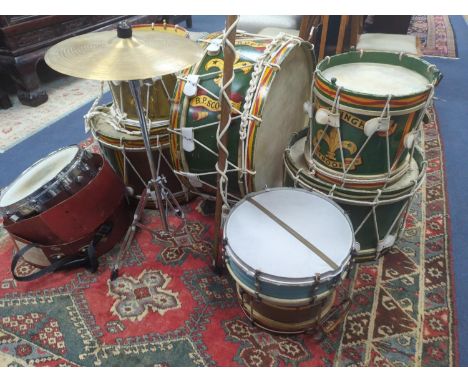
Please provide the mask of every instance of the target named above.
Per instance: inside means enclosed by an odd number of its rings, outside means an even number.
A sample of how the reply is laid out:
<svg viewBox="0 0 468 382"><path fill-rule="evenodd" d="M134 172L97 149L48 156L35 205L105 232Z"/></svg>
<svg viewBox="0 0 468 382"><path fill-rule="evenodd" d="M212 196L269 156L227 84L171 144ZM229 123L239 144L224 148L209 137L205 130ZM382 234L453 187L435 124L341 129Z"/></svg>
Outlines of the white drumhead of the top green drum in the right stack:
<svg viewBox="0 0 468 382"><path fill-rule="evenodd" d="M427 90L429 81L421 74L402 66L373 62L354 62L325 69L322 75L336 85L376 96L405 96Z"/></svg>

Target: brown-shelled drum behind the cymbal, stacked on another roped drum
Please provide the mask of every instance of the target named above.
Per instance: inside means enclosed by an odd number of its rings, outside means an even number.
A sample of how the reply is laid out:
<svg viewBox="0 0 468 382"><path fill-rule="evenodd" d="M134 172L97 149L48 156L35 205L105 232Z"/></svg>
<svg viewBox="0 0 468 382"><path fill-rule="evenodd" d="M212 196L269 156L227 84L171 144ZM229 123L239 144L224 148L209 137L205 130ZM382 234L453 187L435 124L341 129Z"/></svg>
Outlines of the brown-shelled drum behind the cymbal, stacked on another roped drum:
<svg viewBox="0 0 468 382"><path fill-rule="evenodd" d="M132 27L138 31L166 32L189 38L187 30L177 25L170 24L142 24ZM149 65L149 63L148 63ZM159 128L165 133L165 127L169 123L169 111L171 107L172 93L176 83L175 74L167 74L162 77L150 78L143 81L141 86L141 102L146 112L149 126ZM114 111L122 116L126 125L140 126L136 112L135 101L132 97L127 81L111 81L109 88L112 93Z"/></svg>

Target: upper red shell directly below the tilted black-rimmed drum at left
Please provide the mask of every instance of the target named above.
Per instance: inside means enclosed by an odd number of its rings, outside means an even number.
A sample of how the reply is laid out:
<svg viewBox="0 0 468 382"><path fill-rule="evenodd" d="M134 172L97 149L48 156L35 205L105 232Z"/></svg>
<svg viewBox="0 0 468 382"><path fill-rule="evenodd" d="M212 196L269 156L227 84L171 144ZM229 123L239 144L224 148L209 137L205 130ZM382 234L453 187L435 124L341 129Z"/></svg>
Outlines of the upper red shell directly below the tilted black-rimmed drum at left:
<svg viewBox="0 0 468 382"><path fill-rule="evenodd" d="M122 180L98 156L101 169L79 192L29 219L16 223L6 219L5 229L41 245L70 243L94 232L116 210L125 193Z"/></svg>

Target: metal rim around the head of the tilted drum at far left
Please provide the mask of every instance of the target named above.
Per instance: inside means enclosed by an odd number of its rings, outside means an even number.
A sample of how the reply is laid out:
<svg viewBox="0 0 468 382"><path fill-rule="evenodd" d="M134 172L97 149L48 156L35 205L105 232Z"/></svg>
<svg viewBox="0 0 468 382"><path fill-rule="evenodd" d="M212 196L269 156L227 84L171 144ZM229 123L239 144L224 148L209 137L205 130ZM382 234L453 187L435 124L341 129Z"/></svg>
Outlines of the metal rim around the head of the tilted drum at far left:
<svg viewBox="0 0 468 382"><path fill-rule="evenodd" d="M40 197L41 195L43 195L45 192L49 191L54 185L60 183L62 179L65 177L65 174L69 173L80 162L78 159L86 155L85 154L86 150L82 149L79 145L75 144L75 145L68 145L68 146L61 147L47 154L45 157L38 159L32 165L27 167L23 172L21 172L21 174L18 175L15 178L15 180L13 180L13 182L11 182L7 187L5 187L2 190L2 192L0 193L0 202L4 198L4 196L11 190L11 188L15 185L15 183L19 181L24 175L26 175L31 169L38 166L41 162L45 161L47 158L52 157L56 155L57 153L64 151L64 150L68 150L70 148L77 148L77 151L75 155L73 156L73 159L70 161L70 163L64 166L52 179L44 183L42 186L40 186L39 188L34 190L32 193L25 196L24 198L21 198L14 203L11 203L5 206L0 206L0 214L13 213L14 211L11 211L12 209L14 210L20 209L22 206L30 203L31 200L34 200Z"/></svg>

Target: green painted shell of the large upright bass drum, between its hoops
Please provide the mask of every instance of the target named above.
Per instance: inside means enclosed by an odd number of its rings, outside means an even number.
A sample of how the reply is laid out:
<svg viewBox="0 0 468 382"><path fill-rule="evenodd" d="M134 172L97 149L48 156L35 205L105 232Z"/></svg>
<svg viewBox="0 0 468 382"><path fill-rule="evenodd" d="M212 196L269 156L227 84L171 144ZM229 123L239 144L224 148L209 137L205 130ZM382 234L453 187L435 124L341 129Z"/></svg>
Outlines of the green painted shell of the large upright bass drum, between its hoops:
<svg viewBox="0 0 468 382"><path fill-rule="evenodd" d="M206 39L215 39L220 36L220 33L213 33ZM259 44L258 46L236 44L236 62L234 64L234 69L236 69L236 67L240 68L242 65L245 66L245 70L235 70L234 81L231 84L231 99L233 100L234 105L237 105L239 110L242 110L245 94L249 88L253 66L270 41L271 40L266 40L265 43ZM189 73L204 76L200 78L200 85L212 94L218 96L222 85L222 75L213 74L210 76L209 73L222 71L223 67L224 55L220 51L217 55L205 54L201 62L192 67ZM172 127L192 126L196 128L201 125L219 122L219 102L207 91L200 90L196 97L188 99L188 97L183 93L184 84L184 81L179 81L176 85L175 93L177 94L177 92L179 92L181 98L180 101L172 107ZM178 121L177 126L174 126L174 114ZM228 160L234 164L237 164L239 151L239 127L240 119L236 119L231 122L228 130ZM194 130L194 138L217 153L216 131L217 124L203 129L197 129ZM177 137L173 137L173 140L174 139L177 141L180 140L180 138L178 139ZM181 147L180 142L176 142L175 145L172 144L171 150L173 150L173 158L179 157L182 162L178 165L176 161L175 167L178 170L189 170L191 173L199 174L212 172L215 169L217 157L209 152L204 150L182 152L181 150L183 150L183 148ZM228 178L231 192L234 194L240 194L238 174L236 172L230 172L228 173ZM200 176L200 179L210 185L216 185L217 175L203 175ZM186 184L190 186L190 183L186 182ZM213 193L213 189L209 186L201 186L199 188L203 192Z"/></svg>

